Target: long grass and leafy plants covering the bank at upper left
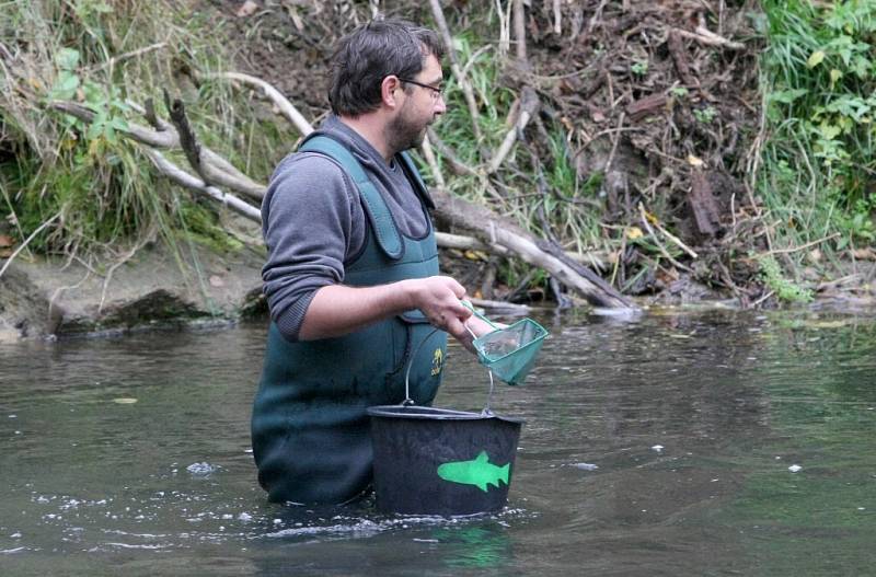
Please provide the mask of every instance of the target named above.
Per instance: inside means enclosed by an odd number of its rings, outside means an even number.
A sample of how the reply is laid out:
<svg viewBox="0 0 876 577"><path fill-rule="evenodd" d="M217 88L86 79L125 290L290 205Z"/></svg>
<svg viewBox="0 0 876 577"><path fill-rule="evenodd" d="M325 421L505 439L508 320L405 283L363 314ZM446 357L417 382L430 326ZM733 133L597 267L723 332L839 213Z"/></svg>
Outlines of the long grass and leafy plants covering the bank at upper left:
<svg viewBox="0 0 876 577"><path fill-rule="evenodd" d="M246 96L223 84L195 86L186 72L223 68L228 55L214 27L170 0L34 0L4 4L0 30L21 64L4 78L18 88L0 90L0 145L12 152L0 155L0 218L18 224L14 234L26 236L60 214L33 249L99 255L155 233L177 257L183 236L239 246L219 238L212 211L159 177L138 145L119 135L143 123L129 102L152 99L165 115L166 89L185 101L204 145L255 178L269 174L284 153L279 130L234 114L251 108ZM74 101L93 119L47 115L51 101ZM186 165L182 155L173 160Z"/></svg>

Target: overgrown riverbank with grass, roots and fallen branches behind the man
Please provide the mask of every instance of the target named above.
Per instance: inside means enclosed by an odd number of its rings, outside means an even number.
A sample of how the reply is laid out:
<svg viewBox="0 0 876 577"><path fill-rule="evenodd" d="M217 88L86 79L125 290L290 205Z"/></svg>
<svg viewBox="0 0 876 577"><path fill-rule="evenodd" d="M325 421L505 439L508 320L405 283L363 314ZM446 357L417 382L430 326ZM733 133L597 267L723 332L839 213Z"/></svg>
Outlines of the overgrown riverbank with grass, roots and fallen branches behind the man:
<svg viewBox="0 0 876 577"><path fill-rule="evenodd" d="M852 146L873 140L872 103L846 106L873 93L861 76L871 65L851 69L820 50L839 44L819 35L851 35L864 50L873 8L441 4L380 10L447 20L448 113L415 157L436 193L477 210L438 215L440 232L469 242L443 254L472 296L583 303L564 273L584 264L644 307L873 298L874 155ZM74 15L71 5L15 4L21 26L2 39L15 90L0 91L0 266L21 254L0 278L0 330L18 338L238 318L261 262L235 281L216 272L227 255L262 249L257 230L229 234L228 207L257 220L270 171L303 134L279 104L324 117L331 46L376 4L162 0ZM511 30L512 16L526 26ZM789 33L792 16L815 32ZM781 83L789 72L798 82ZM287 100L265 102L252 77ZM803 132L782 131L791 126ZM185 151L183 134L194 141ZM204 157L192 164L195 149ZM542 258L497 238L511 227Z"/></svg>

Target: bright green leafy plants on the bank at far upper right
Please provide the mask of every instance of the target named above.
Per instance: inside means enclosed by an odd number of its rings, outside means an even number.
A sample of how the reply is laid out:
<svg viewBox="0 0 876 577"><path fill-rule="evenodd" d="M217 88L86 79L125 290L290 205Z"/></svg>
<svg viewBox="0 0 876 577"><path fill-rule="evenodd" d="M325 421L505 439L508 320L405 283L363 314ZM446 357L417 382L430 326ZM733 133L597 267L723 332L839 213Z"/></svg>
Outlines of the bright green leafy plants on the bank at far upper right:
<svg viewBox="0 0 876 577"><path fill-rule="evenodd" d="M876 3L765 0L770 138L758 188L785 244L874 240Z"/></svg>

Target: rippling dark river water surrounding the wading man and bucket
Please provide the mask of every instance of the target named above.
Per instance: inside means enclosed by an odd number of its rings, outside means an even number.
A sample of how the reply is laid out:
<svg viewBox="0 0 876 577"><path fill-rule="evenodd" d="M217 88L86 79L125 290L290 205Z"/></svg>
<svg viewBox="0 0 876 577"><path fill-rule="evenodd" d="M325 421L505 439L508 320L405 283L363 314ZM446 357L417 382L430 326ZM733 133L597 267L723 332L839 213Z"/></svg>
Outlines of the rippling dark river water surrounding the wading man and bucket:
<svg viewBox="0 0 876 577"><path fill-rule="evenodd" d="M264 324L0 345L0 574L872 575L876 316L566 313L502 513L267 504ZM438 406L487 381L451 347Z"/></svg>

